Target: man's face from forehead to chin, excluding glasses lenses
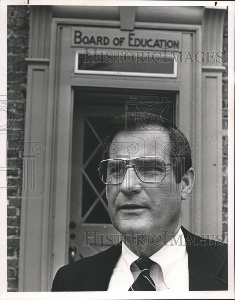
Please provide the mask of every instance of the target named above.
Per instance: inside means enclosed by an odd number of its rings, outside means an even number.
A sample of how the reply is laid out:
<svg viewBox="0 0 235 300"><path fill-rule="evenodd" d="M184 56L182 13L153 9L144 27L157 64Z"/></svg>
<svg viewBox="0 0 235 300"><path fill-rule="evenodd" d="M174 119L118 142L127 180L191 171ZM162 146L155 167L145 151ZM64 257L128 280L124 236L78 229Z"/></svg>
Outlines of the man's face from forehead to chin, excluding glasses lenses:
<svg viewBox="0 0 235 300"><path fill-rule="evenodd" d="M165 163L171 163L169 154L161 148L167 142L167 131L122 131L112 141L110 149L117 146L118 152L110 153L110 158L160 156ZM174 232L180 221L180 184L176 184L170 166L161 182L151 183L142 182L133 167L127 168L123 182L106 185L106 190L112 223L122 234Z"/></svg>

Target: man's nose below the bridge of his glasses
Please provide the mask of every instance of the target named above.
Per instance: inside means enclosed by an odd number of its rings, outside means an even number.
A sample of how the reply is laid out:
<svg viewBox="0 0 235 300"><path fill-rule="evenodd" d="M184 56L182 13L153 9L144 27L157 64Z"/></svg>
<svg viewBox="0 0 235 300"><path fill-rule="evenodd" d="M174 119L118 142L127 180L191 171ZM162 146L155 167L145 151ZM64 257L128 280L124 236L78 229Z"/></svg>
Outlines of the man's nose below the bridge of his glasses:
<svg viewBox="0 0 235 300"><path fill-rule="evenodd" d="M139 179L133 167L128 167L121 183L120 190L123 194L138 194L141 192L143 182Z"/></svg>

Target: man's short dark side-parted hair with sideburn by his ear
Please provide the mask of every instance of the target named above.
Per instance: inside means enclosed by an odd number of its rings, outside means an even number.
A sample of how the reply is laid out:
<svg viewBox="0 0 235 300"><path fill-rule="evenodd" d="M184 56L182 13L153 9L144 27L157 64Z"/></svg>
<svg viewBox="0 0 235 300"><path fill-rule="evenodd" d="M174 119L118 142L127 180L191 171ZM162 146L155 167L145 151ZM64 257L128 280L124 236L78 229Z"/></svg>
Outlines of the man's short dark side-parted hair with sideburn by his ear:
<svg viewBox="0 0 235 300"><path fill-rule="evenodd" d="M151 130L155 128L168 131L170 142L163 147L170 154L174 168L175 179L180 183L183 175L192 167L191 148L183 132L177 129L171 121L153 113L125 113L115 116L107 124L106 138L102 144L102 160L109 159L110 145L115 135L120 131Z"/></svg>

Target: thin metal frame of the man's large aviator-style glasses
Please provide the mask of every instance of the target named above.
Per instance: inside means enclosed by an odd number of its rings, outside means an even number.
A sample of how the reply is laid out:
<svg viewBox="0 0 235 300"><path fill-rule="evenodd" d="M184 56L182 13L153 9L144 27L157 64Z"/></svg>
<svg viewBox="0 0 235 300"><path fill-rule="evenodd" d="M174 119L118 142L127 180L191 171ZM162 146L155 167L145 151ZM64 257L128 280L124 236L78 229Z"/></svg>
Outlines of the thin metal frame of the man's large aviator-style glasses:
<svg viewBox="0 0 235 300"><path fill-rule="evenodd" d="M145 180L143 180L143 179L139 176L138 171L137 171L136 168L135 168L135 160L136 160L137 158L160 158L160 159L162 160L164 166L165 166L165 175L164 175L164 177L163 177L161 180L158 180L158 181L155 181L155 180L154 180L154 181L145 181ZM148 182L148 183L151 183L151 182L161 182L161 181L165 178L165 176L166 176L166 167L168 167L168 166L176 166L175 164L164 163L164 160L163 160L160 156L138 156L138 157L130 157L130 158L110 158L110 159L104 159L103 161L114 161L114 160L117 160L117 159L122 160L122 161L125 162L126 169L128 169L128 168L130 168L130 167L134 168L135 173L136 173L136 175L138 176L138 178L139 178L142 182ZM134 160L134 164L132 164L132 165L127 165L127 164L126 164L126 161L127 161L127 160L130 161L130 160L132 160L132 159ZM103 161L101 161L100 164L101 164ZM100 165L99 165L97 171L99 172L99 175L100 175ZM124 176L123 176L123 179L124 179L125 175L126 175L126 171L125 171L125 174L124 174ZM102 180L102 182L103 182L104 184L107 184L107 185L121 184L121 183L123 182L123 179L122 179L122 181L121 181L120 183L105 183L105 182L103 181L101 175L100 175L100 179Z"/></svg>

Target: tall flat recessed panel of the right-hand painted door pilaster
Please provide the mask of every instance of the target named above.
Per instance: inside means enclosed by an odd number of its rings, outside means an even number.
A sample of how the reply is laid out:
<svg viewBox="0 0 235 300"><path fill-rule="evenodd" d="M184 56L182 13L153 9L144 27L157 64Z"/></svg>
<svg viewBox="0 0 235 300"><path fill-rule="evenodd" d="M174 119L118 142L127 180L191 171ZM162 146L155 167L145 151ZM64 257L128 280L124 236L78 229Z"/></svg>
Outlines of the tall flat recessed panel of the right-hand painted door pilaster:
<svg viewBox="0 0 235 300"><path fill-rule="evenodd" d="M203 72L202 82L202 151L207 154L202 157L202 233L217 240L222 234L222 73Z"/></svg>

